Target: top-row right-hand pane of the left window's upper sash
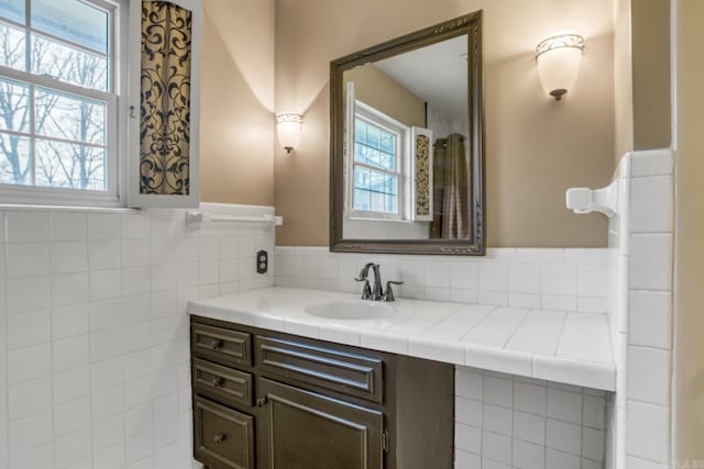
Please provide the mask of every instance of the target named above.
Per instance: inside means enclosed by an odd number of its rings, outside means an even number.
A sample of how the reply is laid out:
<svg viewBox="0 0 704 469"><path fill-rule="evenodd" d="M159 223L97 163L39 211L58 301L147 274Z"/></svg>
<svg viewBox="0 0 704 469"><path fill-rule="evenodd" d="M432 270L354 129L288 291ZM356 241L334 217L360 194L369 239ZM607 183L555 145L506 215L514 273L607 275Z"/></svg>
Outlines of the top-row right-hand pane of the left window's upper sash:
<svg viewBox="0 0 704 469"><path fill-rule="evenodd" d="M81 1L33 0L32 26L84 47L108 52L108 12Z"/></svg>

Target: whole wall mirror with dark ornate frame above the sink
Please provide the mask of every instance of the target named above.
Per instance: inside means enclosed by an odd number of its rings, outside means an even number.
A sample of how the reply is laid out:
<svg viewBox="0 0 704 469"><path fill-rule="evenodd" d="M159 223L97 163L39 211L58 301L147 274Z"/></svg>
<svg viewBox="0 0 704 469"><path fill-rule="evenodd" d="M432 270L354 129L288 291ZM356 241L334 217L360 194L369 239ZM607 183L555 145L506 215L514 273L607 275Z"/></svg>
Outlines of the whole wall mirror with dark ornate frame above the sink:
<svg viewBox="0 0 704 469"><path fill-rule="evenodd" d="M482 12L330 63L330 250L484 255Z"/></svg>

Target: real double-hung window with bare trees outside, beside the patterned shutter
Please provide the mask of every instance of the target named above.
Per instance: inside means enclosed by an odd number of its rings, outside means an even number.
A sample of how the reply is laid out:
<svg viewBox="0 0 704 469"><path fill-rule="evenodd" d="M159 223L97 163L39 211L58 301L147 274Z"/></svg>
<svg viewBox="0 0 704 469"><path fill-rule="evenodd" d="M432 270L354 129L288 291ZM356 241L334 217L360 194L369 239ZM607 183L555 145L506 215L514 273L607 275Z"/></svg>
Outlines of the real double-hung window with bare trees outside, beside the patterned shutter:
<svg viewBox="0 0 704 469"><path fill-rule="evenodd" d="M0 0L1 201L118 202L121 23L109 1Z"/></svg>

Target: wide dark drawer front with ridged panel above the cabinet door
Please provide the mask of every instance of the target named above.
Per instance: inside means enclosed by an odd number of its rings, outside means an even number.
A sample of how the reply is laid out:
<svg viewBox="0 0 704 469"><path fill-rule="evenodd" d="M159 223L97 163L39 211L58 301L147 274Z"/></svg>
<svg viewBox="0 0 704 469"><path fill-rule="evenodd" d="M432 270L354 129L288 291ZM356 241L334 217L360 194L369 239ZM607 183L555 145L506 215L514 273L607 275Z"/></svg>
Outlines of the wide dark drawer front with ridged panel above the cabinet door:
<svg viewBox="0 0 704 469"><path fill-rule="evenodd" d="M255 348L263 370L373 402L384 399L378 357L265 336L256 336Z"/></svg>

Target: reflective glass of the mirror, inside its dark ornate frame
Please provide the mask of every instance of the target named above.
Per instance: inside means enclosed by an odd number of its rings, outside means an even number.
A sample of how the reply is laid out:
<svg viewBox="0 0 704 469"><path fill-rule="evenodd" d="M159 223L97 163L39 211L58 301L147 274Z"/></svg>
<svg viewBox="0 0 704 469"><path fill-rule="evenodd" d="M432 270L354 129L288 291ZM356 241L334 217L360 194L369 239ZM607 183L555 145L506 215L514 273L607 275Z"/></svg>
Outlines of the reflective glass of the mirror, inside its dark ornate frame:
<svg viewBox="0 0 704 469"><path fill-rule="evenodd" d="M466 44L462 35L343 72L345 238L469 237Z"/></svg>

